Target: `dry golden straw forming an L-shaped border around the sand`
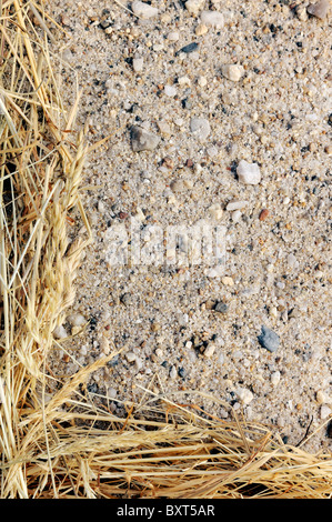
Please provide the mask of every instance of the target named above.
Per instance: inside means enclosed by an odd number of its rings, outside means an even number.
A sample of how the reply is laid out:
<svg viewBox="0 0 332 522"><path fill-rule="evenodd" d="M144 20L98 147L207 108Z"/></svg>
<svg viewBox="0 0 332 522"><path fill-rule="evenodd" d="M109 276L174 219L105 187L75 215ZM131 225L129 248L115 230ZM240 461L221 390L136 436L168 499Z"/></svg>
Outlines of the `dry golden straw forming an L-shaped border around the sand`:
<svg viewBox="0 0 332 522"><path fill-rule="evenodd" d="M1 2L0 2L1 6ZM328 499L332 459L234 415L142 390L125 418L48 361L91 231L80 201L84 129L56 79L42 1L2 1L0 81L0 448L2 499ZM36 27L38 24L38 27ZM70 242L72 211L87 228Z"/></svg>

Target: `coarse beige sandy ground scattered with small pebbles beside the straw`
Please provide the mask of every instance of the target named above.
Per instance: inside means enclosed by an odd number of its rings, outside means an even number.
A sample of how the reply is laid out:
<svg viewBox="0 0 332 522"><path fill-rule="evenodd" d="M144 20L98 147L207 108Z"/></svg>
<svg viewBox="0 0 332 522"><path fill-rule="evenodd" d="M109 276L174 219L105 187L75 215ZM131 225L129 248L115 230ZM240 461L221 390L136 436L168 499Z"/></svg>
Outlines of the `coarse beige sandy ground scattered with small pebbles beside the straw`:
<svg viewBox="0 0 332 522"><path fill-rule="evenodd" d="M331 9L320 19L308 2L214 0L192 2L194 13L160 0L142 20L119 3L52 2L67 32L52 47L66 102L78 82L78 127L89 121L91 143L112 134L85 168L93 243L53 371L123 348L88 385L117 413L149 388L330 451ZM151 150L135 150L134 126ZM258 165L255 184L240 178L243 160ZM83 237L72 218L72 238ZM205 250L191 262L198 223L213 245L225 233L219 261ZM162 235L162 259L149 254L153 230L180 225L189 233L175 249ZM118 265L115 230L127 232Z"/></svg>

